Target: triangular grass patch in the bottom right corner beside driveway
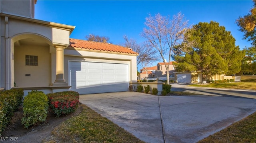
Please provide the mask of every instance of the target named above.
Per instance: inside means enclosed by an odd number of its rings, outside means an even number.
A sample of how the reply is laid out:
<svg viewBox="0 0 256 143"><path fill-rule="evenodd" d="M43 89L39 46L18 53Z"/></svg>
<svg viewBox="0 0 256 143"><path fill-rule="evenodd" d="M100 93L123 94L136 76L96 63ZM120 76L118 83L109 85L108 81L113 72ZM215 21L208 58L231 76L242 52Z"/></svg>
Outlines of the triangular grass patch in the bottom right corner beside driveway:
<svg viewBox="0 0 256 143"><path fill-rule="evenodd" d="M198 143L256 143L256 112Z"/></svg>

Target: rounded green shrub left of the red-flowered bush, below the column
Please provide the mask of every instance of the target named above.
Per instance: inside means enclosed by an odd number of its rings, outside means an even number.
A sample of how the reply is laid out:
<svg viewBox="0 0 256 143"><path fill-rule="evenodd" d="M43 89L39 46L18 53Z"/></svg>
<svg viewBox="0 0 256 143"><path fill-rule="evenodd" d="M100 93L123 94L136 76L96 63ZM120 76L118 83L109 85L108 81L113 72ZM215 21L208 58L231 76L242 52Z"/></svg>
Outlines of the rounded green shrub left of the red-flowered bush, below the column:
<svg viewBox="0 0 256 143"><path fill-rule="evenodd" d="M32 90L24 98L23 118L21 120L25 128L46 121L48 114L48 99L42 91Z"/></svg>

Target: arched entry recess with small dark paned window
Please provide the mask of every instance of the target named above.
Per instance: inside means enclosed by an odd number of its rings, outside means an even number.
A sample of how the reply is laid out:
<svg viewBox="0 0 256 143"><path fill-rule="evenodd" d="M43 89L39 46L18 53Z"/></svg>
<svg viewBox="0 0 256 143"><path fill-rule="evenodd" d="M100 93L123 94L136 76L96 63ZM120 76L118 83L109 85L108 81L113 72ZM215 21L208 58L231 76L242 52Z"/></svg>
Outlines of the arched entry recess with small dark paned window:
<svg viewBox="0 0 256 143"><path fill-rule="evenodd" d="M14 86L34 87L51 84L51 55L54 50L46 37L23 33L12 38Z"/></svg>

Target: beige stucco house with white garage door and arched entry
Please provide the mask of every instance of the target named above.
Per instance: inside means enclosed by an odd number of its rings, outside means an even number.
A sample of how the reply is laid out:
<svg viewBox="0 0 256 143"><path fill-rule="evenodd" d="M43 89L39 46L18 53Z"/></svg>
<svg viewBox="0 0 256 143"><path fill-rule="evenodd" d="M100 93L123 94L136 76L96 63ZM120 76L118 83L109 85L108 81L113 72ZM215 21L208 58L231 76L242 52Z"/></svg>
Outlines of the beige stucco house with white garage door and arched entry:
<svg viewBox="0 0 256 143"><path fill-rule="evenodd" d="M128 91L138 53L118 45L71 39L74 26L34 19L36 0L1 0L0 87L44 93ZM14 85L16 87L14 87Z"/></svg>

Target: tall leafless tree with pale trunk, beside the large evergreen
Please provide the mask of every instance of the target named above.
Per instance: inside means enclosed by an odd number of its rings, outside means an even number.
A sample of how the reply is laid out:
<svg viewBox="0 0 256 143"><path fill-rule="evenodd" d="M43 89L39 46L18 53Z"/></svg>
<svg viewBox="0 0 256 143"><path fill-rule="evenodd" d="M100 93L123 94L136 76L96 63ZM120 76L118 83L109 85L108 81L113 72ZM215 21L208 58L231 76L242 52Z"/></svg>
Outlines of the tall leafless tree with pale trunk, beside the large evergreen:
<svg viewBox="0 0 256 143"><path fill-rule="evenodd" d="M173 16L170 20L170 16L161 16L161 14L156 14L155 16L149 15L144 23L146 28L143 29L142 37L146 38L146 42L150 47L154 47L162 57L164 65L166 68L167 84L170 84L169 78L169 65L171 61L171 55L174 52L180 50L175 50L176 45L181 45L184 40L184 33L188 29L188 20L184 18L184 15L178 13ZM185 49L188 45L182 45L179 49ZM168 62L164 59L164 56L168 54Z"/></svg>

